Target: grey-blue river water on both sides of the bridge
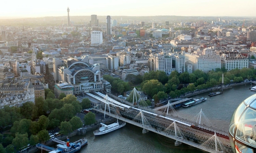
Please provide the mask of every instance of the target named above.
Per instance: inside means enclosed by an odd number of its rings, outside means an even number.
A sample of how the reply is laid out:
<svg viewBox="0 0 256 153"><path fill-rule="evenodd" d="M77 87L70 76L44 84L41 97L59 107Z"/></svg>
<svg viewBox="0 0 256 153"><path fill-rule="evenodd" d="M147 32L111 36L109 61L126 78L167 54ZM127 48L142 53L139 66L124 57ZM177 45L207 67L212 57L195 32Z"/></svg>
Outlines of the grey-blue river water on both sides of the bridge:
<svg viewBox="0 0 256 153"><path fill-rule="evenodd" d="M187 108L180 107L176 111L180 117L193 120L202 109L212 126L228 131L230 118L237 106L256 94L249 88L249 84L233 87L214 97L209 97L209 93L200 94L193 98L207 97L205 102ZM71 137L70 142L82 137L88 139L88 145L80 153L205 153L186 144L174 146L174 140L154 132L142 134L142 128L130 124L98 137L94 136L93 131L89 131L86 135Z"/></svg>

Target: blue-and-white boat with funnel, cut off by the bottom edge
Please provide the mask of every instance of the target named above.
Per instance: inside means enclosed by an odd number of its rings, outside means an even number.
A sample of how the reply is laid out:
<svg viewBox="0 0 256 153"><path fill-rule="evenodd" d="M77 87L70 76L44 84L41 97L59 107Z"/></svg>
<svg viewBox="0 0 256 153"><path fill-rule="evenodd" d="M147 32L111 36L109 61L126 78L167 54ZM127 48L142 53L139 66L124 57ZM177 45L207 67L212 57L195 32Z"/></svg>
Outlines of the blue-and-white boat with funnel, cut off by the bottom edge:
<svg viewBox="0 0 256 153"><path fill-rule="evenodd" d="M76 153L80 151L81 147L87 144L87 139L80 139L76 142L69 143L69 138L67 138L66 144L58 144L57 149L49 153Z"/></svg>

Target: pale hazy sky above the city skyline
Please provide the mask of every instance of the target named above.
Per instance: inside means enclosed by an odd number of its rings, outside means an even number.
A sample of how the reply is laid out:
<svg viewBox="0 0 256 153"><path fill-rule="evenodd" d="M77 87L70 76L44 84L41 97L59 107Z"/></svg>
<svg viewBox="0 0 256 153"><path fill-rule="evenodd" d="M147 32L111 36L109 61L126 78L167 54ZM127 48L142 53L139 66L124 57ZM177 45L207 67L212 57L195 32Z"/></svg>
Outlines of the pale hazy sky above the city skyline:
<svg viewBox="0 0 256 153"><path fill-rule="evenodd" d="M0 17L256 16L256 0L5 0Z"/></svg>

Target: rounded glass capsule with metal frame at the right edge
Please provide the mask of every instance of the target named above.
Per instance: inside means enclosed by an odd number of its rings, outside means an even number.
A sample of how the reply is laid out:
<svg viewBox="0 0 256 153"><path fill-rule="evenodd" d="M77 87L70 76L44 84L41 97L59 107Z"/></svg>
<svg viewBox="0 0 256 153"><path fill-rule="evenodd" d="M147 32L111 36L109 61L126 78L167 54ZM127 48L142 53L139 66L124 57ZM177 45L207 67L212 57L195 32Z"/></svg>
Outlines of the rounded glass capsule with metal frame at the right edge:
<svg viewBox="0 0 256 153"><path fill-rule="evenodd" d="M244 100L234 111L229 140L234 153L254 153L256 150L256 94Z"/></svg>

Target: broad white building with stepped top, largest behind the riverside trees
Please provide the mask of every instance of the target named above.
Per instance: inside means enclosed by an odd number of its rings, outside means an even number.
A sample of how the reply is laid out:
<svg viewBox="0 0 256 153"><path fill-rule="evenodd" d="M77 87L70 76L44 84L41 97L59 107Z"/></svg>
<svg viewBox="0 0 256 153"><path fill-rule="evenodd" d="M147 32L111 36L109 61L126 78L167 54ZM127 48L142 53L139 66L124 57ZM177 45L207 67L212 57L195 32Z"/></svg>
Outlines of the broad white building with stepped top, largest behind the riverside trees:
<svg viewBox="0 0 256 153"><path fill-rule="evenodd" d="M221 57L212 49L207 48L203 51L194 51L193 53L185 53L185 62L193 65L193 71L199 69L203 72L209 72L217 68L221 68Z"/></svg>

